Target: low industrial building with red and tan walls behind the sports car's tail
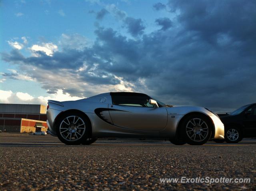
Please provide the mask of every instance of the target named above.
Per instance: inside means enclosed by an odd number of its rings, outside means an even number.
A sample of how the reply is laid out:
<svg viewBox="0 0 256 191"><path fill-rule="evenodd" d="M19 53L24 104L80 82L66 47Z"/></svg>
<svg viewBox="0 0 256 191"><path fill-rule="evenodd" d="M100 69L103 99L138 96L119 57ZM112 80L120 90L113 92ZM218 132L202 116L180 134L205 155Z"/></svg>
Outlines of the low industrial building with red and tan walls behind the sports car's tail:
<svg viewBox="0 0 256 191"><path fill-rule="evenodd" d="M0 130L9 133L46 131L46 107L36 104L0 103Z"/></svg>

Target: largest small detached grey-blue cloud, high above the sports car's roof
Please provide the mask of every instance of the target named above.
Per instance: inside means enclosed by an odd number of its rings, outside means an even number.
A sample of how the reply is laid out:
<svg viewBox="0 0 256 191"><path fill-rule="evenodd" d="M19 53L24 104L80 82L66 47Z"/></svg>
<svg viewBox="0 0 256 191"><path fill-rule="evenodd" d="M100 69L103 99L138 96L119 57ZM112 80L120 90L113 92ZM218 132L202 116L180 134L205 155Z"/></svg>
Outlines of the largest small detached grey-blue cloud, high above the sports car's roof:
<svg viewBox="0 0 256 191"><path fill-rule="evenodd" d="M124 23L126 24L126 28L128 29L128 32L132 36L136 37L140 34L143 34L143 30L145 29L145 26L140 18L135 19L132 17L126 17L126 19L124 20Z"/></svg>

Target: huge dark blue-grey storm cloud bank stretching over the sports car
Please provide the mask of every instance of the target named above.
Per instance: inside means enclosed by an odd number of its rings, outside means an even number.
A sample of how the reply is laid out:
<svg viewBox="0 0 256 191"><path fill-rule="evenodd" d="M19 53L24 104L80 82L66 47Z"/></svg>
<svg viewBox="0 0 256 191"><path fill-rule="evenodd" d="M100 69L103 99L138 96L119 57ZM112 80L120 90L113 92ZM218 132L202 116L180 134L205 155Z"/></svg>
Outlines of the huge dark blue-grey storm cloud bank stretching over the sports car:
<svg viewBox="0 0 256 191"><path fill-rule="evenodd" d="M230 111L256 102L256 2L177 0L167 6L176 13L168 30L130 39L99 27L94 44L80 51L64 49L52 57L41 52L40 57L25 58L15 50L2 58L18 64L50 92L65 88L72 95L86 96L92 90L82 83L95 88L119 84L117 76L132 83L134 91L174 105ZM137 37L145 28L140 19L130 18L127 24ZM63 78L55 82L56 78L38 76L33 67ZM63 82L65 76L71 85Z"/></svg>

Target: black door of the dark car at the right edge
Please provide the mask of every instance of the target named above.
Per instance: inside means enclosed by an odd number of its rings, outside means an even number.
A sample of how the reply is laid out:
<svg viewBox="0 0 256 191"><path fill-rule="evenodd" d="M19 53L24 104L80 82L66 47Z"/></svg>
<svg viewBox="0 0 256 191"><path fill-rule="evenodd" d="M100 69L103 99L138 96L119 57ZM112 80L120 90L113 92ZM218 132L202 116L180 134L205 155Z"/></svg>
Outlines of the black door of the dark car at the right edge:
<svg viewBox="0 0 256 191"><path fill-rule="evenodd" d="M253 105L245 111L244 114L244 133L246 136L256 135L256 105Z"/></svg>

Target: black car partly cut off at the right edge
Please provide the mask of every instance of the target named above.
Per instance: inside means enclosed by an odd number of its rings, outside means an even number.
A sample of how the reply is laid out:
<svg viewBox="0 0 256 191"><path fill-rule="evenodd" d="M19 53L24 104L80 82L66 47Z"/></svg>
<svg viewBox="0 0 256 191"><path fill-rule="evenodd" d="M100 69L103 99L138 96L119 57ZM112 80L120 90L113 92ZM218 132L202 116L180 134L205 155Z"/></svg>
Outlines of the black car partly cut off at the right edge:
<svg viewBox="0 0 256 191"><path fill-rule="evenodd" d="M244 137L256 137L256 103L244 105L220 119L225 126L226 142L238 143Z"/></svg>

